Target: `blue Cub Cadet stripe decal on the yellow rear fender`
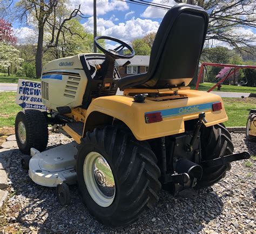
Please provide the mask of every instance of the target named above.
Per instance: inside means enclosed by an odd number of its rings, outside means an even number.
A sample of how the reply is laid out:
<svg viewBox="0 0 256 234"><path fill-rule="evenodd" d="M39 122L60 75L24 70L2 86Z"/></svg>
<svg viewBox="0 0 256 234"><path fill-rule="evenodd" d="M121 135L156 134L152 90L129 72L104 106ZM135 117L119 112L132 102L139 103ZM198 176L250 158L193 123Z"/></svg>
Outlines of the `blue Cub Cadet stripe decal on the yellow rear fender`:
<svg viewBox="0 0 256 234"><path fill-rule="evenodd" d="M178 107L178 108L172 108L172 109L163 109L160 111L146 112L145 114L161 112L162 117L167 118L167 117L171 117L171 116L185 115L185 114L190 114L190 113L207 111L209 109L212 109L212 104L217 103L217 102L219 102L219 101L208 102L205 104L199 104L199 105L193 105L193 106L184 106L184 107Z"/></svg>

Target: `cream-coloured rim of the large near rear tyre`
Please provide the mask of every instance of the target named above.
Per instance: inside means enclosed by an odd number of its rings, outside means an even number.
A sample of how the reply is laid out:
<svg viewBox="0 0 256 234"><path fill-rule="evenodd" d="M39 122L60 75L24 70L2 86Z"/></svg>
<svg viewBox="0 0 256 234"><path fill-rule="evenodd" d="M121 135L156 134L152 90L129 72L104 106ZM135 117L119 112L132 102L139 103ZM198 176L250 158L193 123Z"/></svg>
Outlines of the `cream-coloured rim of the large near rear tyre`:
<svg viewBox="0 0 256 234"><path fill-rule="evenodd" d="M106 159L98 152L86 155L83 166L86 188L100 207L109 207L116 195L116 184Z"/></svg>

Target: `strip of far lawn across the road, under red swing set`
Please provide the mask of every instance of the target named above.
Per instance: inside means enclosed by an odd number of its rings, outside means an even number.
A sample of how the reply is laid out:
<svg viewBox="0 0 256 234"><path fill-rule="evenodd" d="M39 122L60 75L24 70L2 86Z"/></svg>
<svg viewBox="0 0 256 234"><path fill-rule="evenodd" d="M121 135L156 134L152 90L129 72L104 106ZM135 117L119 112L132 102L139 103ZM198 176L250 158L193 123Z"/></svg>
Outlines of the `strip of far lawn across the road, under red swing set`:
<svg viewBox="0 0 256 234"><path fill-rule="evenodd" d="M199 84L199 90L207 91L214 84L204 82ZM191 86L191 89L194 90L196 86ZM218 91L217 87L214 88L214 91ZM233 85L221 85L220 91L222 92L238 92L238 93L256 93L256 87L247 87L247 86L233 86Z"/></svg>

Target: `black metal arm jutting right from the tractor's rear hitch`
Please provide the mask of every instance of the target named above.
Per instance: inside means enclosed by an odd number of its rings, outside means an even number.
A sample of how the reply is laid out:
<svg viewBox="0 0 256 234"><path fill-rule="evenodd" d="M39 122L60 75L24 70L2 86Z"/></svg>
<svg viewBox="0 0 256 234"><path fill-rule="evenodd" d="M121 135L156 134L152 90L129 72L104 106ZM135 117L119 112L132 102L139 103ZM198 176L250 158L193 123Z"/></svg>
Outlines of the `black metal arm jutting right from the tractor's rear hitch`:
<svg viewBox="0 0 256 234"><path fill-rule="evenodd" d="M200 164L203 168L219 167L219 166L224 166L230 162L244 160L244 159L250 159L250 157L251 157L251 155L248 152L242 152L242 153L238 153L238 154L230 154L230 155L226 155L226 156L220 156L220 157L218 157L218 159L203 161Z"/></svg>

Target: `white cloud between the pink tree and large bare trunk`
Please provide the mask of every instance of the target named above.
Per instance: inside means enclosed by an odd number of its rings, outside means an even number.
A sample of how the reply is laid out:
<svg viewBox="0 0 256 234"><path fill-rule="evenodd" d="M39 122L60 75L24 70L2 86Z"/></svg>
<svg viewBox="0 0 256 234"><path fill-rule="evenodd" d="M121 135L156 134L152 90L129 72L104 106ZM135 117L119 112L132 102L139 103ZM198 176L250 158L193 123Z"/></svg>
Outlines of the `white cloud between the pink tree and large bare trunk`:
<svg viewBox="0 0 256 234"><path fill-rule="evenodd" d="M37 33L29 27L14 29L14 35L17 37L18 44L36 43Z"/></svg>

